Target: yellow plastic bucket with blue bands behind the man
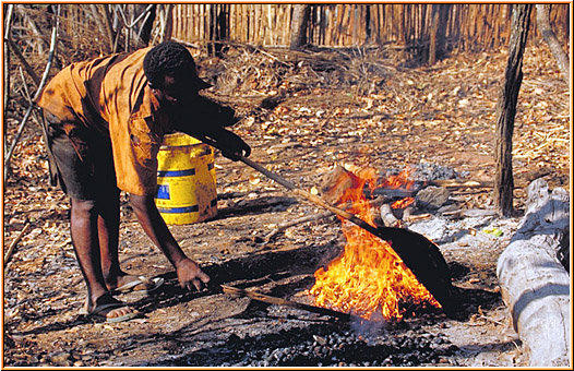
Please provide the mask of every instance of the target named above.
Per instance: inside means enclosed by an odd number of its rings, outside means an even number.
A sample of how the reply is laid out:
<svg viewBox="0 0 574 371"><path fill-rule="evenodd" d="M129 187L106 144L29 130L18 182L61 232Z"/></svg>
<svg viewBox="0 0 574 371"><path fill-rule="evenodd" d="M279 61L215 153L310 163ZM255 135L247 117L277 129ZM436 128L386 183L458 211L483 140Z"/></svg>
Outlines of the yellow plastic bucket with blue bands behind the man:
<svg viewBox="0 0 574 371"><path fill-rule="evenodd" d="M166 224L214 217L217 190L213 148L183 133L165 135L157 154L155 204Z"/></svg>

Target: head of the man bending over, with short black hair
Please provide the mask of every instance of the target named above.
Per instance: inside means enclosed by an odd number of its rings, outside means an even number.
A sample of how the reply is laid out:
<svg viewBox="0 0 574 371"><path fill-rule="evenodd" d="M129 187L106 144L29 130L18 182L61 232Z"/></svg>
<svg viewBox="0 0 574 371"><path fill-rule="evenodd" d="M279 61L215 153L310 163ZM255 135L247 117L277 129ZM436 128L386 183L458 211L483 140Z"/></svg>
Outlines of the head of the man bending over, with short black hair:
<svg viewBox="0 0 574 371"><path fill-rule="evenodd" d="M162 43L144 58L144 73L160 99L179 103L211 86L198 76L193 57L181 44Z"/></svg>

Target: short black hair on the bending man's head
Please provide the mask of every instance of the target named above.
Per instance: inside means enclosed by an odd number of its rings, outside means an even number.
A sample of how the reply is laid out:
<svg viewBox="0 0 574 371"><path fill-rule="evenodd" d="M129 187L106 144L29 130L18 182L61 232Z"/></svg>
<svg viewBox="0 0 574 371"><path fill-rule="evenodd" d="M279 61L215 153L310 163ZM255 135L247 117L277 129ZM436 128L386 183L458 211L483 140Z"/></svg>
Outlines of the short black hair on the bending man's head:
<svg viewBox="0 0 574 371"><path fill-rule="evenodd" d="M153 87L160 88L164 77L189 73L198 79L193 57L189 50L176 41L164 41L153 47L144 57L144 73Z"/></svg>

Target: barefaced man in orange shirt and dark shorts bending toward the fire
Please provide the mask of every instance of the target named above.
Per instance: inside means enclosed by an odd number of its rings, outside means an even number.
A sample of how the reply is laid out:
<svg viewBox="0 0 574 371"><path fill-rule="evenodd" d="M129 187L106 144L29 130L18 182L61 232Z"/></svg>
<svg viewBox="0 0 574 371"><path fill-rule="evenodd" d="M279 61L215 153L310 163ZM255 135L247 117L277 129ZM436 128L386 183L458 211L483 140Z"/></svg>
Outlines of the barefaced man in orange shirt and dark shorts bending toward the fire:
<svg viewBox="0 0 574 371"><path fill-rule="evenodd" d="M214 142L231 159L251 152L224 129L237 121L234 110L199 94L207 86L187 48L167 41L73 63L39 97L56 163L52 177L71 199L72 243L87 287L88 315L108 322L132 319L137 312L113 295L140 284L154 288L154 282L120 268L120 191L129 194L145 234L176 268L180 286L199 290L208 283L154 202L156 156L165 134L178 131Z"/></svg>

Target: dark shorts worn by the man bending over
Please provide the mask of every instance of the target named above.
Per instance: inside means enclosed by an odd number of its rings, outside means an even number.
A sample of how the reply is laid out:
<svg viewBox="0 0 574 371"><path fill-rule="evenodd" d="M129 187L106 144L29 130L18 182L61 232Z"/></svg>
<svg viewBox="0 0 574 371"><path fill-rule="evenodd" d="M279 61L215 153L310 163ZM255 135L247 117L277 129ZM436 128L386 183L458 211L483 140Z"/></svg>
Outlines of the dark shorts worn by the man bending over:
<svg viewBox="0 0 574 371"><path fill-rule="evenodd" d="M64 122L47 111L44 117L48 151L56 163L56 178L62 191L73 199L93 201L119 193L109 136L87 129L74 129L68 135Z"/></svg>

